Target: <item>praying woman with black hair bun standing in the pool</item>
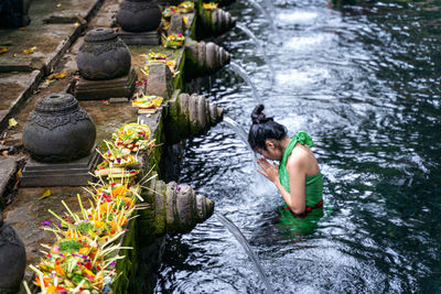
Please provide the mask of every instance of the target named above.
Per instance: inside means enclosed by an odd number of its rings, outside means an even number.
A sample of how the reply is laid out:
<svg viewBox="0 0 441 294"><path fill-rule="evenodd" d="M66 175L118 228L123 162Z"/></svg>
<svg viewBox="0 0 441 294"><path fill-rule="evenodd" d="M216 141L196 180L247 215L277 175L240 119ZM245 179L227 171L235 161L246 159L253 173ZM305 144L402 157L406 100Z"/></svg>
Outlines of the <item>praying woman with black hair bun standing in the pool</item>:
<svg viewBox="0 0 441 294"><path fill-rule="evenodd" d="M305 132L298 132L293 138L287 135L287 129L267 118L259 105L251 113L252 126L248 142L252 150L265 159L257 163L265 175L282 194L287 206L295 217L304 217L315 208L323 206L323 176L318 161L309 149L314 143ZM280 161L280 166L268 160Z"/></svg>

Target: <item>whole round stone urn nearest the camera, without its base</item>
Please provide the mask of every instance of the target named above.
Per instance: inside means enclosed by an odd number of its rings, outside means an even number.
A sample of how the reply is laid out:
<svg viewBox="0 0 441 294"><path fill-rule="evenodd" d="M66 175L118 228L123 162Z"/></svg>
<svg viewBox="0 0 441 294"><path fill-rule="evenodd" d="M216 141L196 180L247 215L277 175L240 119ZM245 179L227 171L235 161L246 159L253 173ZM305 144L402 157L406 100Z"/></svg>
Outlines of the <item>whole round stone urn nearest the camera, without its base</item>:
<svg viewBox="0 0 441 294"><path fill-rule="evenodd" d="M23 128L23 145L42 162L68 162L89 154L95 123L69 94L50 94L36 102Z"/></svg>

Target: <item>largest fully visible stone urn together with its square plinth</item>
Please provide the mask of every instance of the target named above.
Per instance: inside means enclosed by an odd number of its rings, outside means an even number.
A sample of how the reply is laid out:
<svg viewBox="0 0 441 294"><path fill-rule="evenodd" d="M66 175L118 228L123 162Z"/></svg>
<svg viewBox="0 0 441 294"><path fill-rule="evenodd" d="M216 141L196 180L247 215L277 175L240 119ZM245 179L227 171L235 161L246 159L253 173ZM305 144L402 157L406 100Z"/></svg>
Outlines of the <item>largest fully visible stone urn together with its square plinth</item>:
<svg viewBox="0 0 441 294"><path fill-rule="evenodd" d="M95 123L69 94L41 97L23 128L28 161L22 186L87 185L97 157L90 155L95 144Z"/></svg>

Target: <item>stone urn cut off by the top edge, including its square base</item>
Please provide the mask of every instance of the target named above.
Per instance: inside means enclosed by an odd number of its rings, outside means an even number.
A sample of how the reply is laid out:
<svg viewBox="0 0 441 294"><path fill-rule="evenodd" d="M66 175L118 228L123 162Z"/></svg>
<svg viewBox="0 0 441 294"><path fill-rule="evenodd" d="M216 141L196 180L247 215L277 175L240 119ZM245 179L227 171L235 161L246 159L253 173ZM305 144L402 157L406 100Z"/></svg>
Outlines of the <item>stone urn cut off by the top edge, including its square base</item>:
<svg viewBox="0 0 441 294"><path fill-rule="evenodd" d="M159 45L162 12L152 0L123 0L119 7L117 22L121 26L118 35L127 45Z"/></svg>

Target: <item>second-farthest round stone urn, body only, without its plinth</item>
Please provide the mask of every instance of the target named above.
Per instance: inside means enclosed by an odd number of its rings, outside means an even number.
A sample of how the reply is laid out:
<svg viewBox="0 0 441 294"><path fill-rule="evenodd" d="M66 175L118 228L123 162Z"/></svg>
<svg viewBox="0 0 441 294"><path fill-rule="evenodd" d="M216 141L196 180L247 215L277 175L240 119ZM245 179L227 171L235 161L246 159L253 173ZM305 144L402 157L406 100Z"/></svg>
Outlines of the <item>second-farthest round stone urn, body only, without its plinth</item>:
<svg viewBox="0 0 441 294"><path fill-rule="evenodd" d="M130 50L114 30L90 30L79 47L76 64L79 75L85 79L103 80L125 76L131 66Z"/></svg>

